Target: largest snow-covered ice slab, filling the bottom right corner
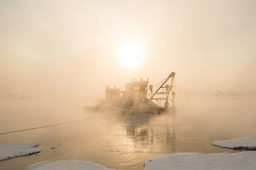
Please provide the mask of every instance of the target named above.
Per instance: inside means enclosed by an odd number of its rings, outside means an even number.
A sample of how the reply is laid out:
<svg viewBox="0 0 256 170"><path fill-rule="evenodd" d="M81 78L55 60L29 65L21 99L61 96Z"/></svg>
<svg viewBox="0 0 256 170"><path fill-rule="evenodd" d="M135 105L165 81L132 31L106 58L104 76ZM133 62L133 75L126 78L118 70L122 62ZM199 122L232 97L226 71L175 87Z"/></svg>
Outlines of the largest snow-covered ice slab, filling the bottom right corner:
<svg viewBox="0 0 256 170"><path fill-rule="evenodd" d="M144 170L256 170L256 151L172 153L144 162Z"/></svg>

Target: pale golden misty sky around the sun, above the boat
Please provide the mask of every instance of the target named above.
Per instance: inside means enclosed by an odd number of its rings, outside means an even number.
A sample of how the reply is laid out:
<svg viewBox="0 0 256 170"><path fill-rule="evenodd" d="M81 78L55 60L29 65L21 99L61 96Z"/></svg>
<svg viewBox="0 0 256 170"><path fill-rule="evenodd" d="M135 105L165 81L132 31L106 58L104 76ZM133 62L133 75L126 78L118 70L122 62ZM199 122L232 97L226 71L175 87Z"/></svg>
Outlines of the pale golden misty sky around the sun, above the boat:
<svg viewBox="0 0 256 170"><path fill-rule="evenodd" d="M145 51L132 70L127 41ZM177 90L256 90L256 0L0 0L0 94L98 94L172 71Z"/></svg>

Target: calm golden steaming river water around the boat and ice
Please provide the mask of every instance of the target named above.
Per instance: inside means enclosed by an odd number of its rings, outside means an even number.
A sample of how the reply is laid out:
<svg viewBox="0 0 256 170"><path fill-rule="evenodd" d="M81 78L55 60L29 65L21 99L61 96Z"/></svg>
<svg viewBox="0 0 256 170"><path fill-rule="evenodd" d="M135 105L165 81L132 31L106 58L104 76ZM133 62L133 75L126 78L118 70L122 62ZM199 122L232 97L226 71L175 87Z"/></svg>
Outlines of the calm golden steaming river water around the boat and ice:
<svg viewBox="0 0 256 170"><path fill-rule="evenodd" d="M117 170L143 170L146 159L168 153L238 152L211 143L256 135L255 103L252 96L177 95L175 115L127 115L85 112L85 101L75 97L0 99L0 133L95 118L0 135L0 144L39 143L41 149L38 154L0 161L0 170L72 159Z"/></svg>

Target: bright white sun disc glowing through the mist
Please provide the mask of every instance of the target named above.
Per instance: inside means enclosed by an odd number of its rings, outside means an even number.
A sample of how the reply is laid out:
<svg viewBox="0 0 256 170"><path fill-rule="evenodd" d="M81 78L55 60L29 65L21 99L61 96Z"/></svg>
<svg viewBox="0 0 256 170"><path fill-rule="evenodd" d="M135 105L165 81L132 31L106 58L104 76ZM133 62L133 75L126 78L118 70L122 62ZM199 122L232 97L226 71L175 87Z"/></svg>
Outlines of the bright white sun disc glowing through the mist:
<svg viewBox="0 0 256 170"><path fill-rule="evenodd" d="M119 47L118 57L126 68L138 66L144 56L142 47L134 42L125 43Z"/></svg>

